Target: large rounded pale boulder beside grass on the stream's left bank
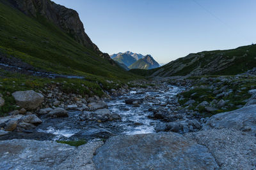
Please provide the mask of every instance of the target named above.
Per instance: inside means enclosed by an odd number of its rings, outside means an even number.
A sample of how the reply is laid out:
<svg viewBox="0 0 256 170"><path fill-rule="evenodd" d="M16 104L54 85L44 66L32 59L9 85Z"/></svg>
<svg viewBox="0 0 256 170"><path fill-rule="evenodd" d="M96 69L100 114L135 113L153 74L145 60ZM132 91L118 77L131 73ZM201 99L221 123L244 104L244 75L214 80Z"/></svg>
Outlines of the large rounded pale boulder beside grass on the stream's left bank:
<svg viewBox="0 0 256 170"><path fill-rule="evenodd" d="M12 96L17 105L26 110L36 109L44 101L44 96L34 90L14 92Z"/></svg>

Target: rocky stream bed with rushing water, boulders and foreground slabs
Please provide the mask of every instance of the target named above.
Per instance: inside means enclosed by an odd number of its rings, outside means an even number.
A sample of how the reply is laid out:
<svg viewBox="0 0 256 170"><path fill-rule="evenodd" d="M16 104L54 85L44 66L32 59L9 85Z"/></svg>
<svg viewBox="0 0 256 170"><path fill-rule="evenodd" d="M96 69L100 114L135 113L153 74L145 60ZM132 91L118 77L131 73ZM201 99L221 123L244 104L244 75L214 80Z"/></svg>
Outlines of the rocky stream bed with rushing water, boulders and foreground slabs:
<svg viewBox="0 0 256 170"><path fill-rule="evenodd" d="M230 92L237 80L242 93ZM255 169L252 83L247 75L136 81L102 98L58 88L15 92L20 109L0 118L0 164L3 169ZM186 94L195 89L207 89L206 96ZM228 92L247 104L229 111ZM206 110L221 100L226 112ZM204 110L202 102L209 103ZM75 147L56 140L88 143Z"/></svg>

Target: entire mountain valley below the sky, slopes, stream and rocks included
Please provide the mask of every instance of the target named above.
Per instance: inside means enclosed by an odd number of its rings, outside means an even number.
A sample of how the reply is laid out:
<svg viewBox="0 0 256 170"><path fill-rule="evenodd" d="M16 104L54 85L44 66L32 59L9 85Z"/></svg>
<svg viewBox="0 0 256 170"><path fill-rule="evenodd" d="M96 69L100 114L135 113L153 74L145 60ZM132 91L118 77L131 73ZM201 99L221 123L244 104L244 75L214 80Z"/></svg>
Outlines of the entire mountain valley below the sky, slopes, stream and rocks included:
<svg viewBox="0 0 256 170"><path fill-rule="evenodd" d="M160 66L50 0L0 0L0 22L0 169L256 168L255 45Z"/></svg>

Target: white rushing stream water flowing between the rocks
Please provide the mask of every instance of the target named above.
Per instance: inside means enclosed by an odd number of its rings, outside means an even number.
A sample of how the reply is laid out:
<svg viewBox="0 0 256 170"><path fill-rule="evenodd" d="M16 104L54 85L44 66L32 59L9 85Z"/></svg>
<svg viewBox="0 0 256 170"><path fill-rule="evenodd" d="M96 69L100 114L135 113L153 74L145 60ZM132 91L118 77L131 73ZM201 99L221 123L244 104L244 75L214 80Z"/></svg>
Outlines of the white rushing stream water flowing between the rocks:
<svg viewBox="0 0 256 170"><path fill-rule="evenodd" d="M159 103L177 102L176 95L180 92L180 87L165 85L159 90L139 90L131 91L124 96L115 97L105 101L112 113L118 113L122 120L112 122L81 122L79 121L79 111L70 111L67 118L43 118L44 121L37 127L38 132L54 134L56 139L95 139L109 138L118 134L145 134L154 132L156 124L160 120L148 118L152 115L149 108L159 107ZM125 104L125 99L144 99L146 96L154 97L154 101L144 100L139 106Z"/></svg>

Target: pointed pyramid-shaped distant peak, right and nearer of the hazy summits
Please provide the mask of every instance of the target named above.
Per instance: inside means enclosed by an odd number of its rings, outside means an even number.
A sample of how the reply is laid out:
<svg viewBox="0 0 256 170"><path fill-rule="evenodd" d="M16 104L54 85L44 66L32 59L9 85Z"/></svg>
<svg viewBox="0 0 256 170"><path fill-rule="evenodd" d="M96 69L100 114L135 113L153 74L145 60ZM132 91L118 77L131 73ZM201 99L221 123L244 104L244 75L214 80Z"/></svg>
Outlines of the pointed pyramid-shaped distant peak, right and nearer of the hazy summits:
<svg viewBox="0 0 256 170"><path fill-rule="evenodd" d="M154 69L160 67L151 55L146 55L143 59L134 62L129 69Z"/></svg>

